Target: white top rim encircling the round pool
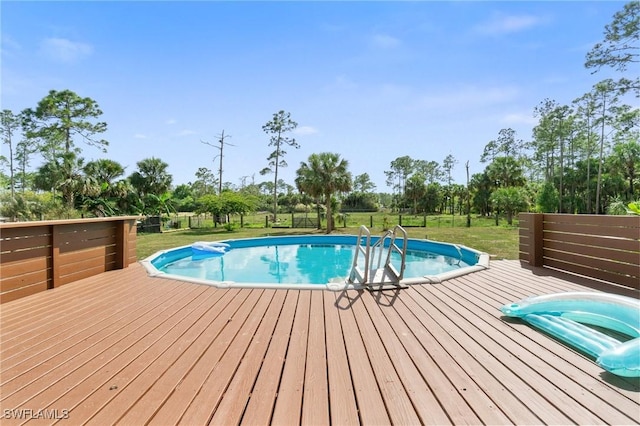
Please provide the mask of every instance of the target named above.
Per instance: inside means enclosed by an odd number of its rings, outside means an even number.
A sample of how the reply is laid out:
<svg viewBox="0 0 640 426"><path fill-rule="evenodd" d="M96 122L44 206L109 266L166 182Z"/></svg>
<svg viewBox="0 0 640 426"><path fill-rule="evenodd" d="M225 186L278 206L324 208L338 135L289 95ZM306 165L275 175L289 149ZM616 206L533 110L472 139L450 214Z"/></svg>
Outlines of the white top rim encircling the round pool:
<svg viewBox="0 0 640 426"><path fill-rule="evenodd" d="M258 238L239 238L239 239L230 239L230 240L220 240L215 242L221 243L230 243L230 242L238 242L238 241L253 241L253 240L263 240L268 238L291 238L296 239L300 237L310 237L310 236L290 236L290 237L258 237ZM313 236L313 237L322 237L322 236ZM356 238L357 235L340 235L339 237L351 237ZM490 256L488 253L478 251L471 247L467 247L462 244L453 244L453 243L445 243L440 241L426 240L426 239L418 239L418 238L409 238L407 240L414 242L423 242L423 243L435 243L439 245L452 246L456 249L464 249L476 254L478 261L476 264L467 266L464 268L443 272L437 275L424 275L421 277L411 277L404 278L398 284L400 286L408 286L408 285L421 285L421 284L437 284L446 280L450 280L452 278L461 277L463 275L467 275L473 272L482 271L485 269L489 269ZM214 242L214 241L211 241ZM295 243L292 243L295 244ZM344 281L335 281L328 282L326 284L297 284L297 283L261 283L261 282L252 282L252 283L243 283L236 281L213 281L213 280L204 280L200 278L194 277L185 277L182 275L176 274L168 274L166 272L162 272L158 270L152 263L152 260L158 256L166 254L170 251L185 249L191 247L191 244L187 244L184 246L173 247L167 250L160 250L152 254L151 256L146 257L143 260L140 260L139 263L142 264L144 269L147 272L147 275L154 278L164 278L170 280L178 280L184 282L191 282L194 284L208 285L217 288L260 288L260 289L298 289L298 290L330 290L330 291L343 291L343 290L360 290L371 288L372 285L366 284L357 284L357 283L349 283L347 282L347 277L344 278ZM375 287L376 284L373 284Z"/></svg>

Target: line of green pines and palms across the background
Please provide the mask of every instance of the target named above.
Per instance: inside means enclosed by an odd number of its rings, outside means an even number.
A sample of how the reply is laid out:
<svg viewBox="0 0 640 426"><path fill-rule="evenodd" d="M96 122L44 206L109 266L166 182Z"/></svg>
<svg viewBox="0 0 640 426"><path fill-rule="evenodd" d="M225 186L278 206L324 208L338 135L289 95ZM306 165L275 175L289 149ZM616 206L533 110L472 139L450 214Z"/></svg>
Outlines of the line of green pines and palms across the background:
<svg viewBox="0 0 640 426"><path fill-rule="evenodd" d="M592 73L609 68L618 80L605 79L568 105L547 98L534 110L538 123L524 141L513 129L501 129L488 141L480 161L484 171L467 182L452 181L459 161L442 162L400 156L385 171L391 193L375 192L367 173L353 177L348 161L337 153L314 153L302 162L293 184L279 178L287 149L300 147L291 137L297 123L278 111L262 126L273 152L256 182L255 174L240 185L223 182L222 147L218 174L205 167L195 180L173 186L168 164L159 158L137 163L128 176L109 159L85 162L84 146L106 153L100 136L107 124L96 101L71 90L51 90L35 108L2 111L0 214L12 220L54 217L168 214L174 211L232 213L266 210L277 221L283 211L322 205L327 230L338 209L374 211L381 207L414 214L512 216L522 210L566 213L624 213L640 200L640 112L623 101L640 97L639 77L629 73L638 62L640 3L631 2L605 27L604 40L587 54ZM205 142L206 143L206 142ZM35 169L32 163L39 159ZM318 207L319 208L319 207Z"/></svg>

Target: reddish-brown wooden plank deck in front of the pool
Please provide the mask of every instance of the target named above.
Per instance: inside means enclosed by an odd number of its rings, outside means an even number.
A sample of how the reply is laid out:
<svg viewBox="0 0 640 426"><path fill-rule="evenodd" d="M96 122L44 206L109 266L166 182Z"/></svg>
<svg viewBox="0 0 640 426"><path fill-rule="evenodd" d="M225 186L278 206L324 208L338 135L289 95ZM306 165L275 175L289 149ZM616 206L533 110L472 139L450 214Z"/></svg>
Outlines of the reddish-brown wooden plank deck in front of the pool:
<svg viewBox="0 0 640 426"><path fill-rule="evenodd" d="M1 423L638 424L638 380L498 310L601 289L517 261L379 293L224 290L134 264L0 307Z"/></svg>

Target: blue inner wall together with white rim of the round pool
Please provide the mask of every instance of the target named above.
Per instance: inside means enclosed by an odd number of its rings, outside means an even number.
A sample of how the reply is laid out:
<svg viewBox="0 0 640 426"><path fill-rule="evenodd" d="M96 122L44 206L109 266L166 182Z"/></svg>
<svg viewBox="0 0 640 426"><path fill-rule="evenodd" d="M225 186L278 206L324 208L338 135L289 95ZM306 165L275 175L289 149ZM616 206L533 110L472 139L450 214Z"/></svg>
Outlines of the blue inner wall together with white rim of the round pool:
<svg viewBox="0 0 640 426"><path fill-rule="evenodd" d="M377 242L380 237L371 237L371 244ZM356 245L358 237L356 235L300 235L300 236L284 236L284 237L259 237L259 238L243 238L234 240L222 240L229 244L230 250L234 248L245 247L260 247L260 246L272 246L272 245L292 245L292 244L332 244L332 245ZM385 246L388 246L388 241L385 241ZM400 242L400 246L402 246ZM445 272L438 275L425 275L423 277L406 278L401 281L401 284L415 285L415 284L429 284L439 283L451 278L466 275L471 272L480 271L489 268L489 255L487 253L479 252L472 248L451 244L442 243L431 240L418 240L407 239L407 249L419 250L441 254L453 258L460 259L464 263L470 265L464 268L456 269L453 271ZM213 285L219 288L240 287L240 288L296 288L296 289L328 289L339 291L346 288L363 288L357 284L348 284L346 277L344 282L331 282L326 285L322 284L273 284L273 283L240 283L234 281L210 281L198 278L184 277L175 274L167 274L160 271L164 265L174 262L178 259L191 255L191 245L177 247L170 250L162 250L153 255L141 260L140 263L147 270L147 273L153 277L174 279L180 281L194 282L197 284Z"/></svg>

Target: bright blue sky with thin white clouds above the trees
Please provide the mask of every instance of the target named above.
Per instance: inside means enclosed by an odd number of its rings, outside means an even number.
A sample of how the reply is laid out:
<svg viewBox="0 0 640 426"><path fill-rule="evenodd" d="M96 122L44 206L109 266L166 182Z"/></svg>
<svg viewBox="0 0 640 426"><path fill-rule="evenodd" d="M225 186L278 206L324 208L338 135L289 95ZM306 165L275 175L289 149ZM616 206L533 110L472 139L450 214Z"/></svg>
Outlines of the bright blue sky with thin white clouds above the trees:
<svg viewBox="0 0 640 426"><path fill-rule="evenodd" d="M624 2L23 2L2 1L1 103L19 112L49 90L98 102L108 154L88 161L169 164L174 185L215 170L261 176L262 126L285 110L298 123L281 177L312 153L337 152L353 175L390 192L400 156L458 161L479 173L500 129L529 140L545 98L569 104L596 82L584 58ZM3 154L6 148L3 146Z"/></svg>

